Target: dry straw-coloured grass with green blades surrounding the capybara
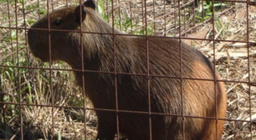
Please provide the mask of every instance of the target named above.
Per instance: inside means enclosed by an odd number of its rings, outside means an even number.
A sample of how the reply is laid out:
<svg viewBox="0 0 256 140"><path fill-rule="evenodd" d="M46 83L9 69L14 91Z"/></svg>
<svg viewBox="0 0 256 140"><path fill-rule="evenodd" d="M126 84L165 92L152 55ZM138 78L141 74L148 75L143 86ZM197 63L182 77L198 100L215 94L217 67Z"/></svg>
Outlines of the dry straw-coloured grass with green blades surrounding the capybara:
<svg viewBox="0 0 256 140"><path fill-rule="evenodd" d="M75 85L73 74L69 72L70 67L60 62L51 67L64 70L49 70L48 63L39 62L28 51L26 28L40 17L39 13L47 12L46 2L18 2L17 11L14 1L9 1L9 4L6 1L0 2L0 139L19 139L21 126L24 139L83 139L85 126L86 139L95 138L95 113L90 110L90 101L83 97L82 90ZM71 1L68 5L70 3ZM65 1L54 1L49 4L49 10L66 5ZM105 10L102 15L112 23L111 6L106 5L102 9ZM134 34L145 34L144 6L141 0L115 2L116 28ZM182 39L192 47L197 47L212 61L215 60L218 71L227 81L228 121L223 139L255 139L256 87L248 84L256 82L255 7L249 7L249 27L246 26L246 5L235 3L215 12L214 28L210 20L197 23L192 7L182 8L180 28L179 14L174 4L166 5L162 0L148 0L146 9L147 29L151 35L178 37L181 33L181 37L215 37L223 40L212 42ZM197 7L197 12L199 9ZM249 37L246 36L247 31ZM254 42L249 47L246 43L248 39L249 42ZM21 103L23 105L20 106ZM83 108L88 109L84 112Z"/></svg>

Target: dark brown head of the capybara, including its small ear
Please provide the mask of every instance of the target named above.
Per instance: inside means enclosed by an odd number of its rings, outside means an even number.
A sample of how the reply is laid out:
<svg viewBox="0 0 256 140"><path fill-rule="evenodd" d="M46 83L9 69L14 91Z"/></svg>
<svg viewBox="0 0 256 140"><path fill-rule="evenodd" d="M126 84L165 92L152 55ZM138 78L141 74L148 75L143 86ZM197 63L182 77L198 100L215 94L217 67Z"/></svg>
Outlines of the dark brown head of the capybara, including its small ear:
<svg viewBox="0 0 256 140"><path fill-rule="evenodd" d="M80 49L72 47L80 46L79 32L87 10L95 10L92 0L78 7L59 9L34 23L28 30L28 44L33 55L43 62L50 59L69 62L69 57L79 57Z"/></svg>

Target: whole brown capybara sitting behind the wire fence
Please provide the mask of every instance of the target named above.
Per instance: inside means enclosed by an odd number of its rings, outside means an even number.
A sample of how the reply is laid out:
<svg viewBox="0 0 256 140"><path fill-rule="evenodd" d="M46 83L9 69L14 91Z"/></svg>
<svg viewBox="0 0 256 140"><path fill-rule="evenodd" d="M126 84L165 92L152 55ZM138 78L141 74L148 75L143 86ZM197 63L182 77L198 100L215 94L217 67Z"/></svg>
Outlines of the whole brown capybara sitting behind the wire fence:
<svg viewBox="0 0 256 140"><path fill-rule="evenodd" d="M201 52L171 37L115 30L87 0L56 10L28 30L44 62L64 61L98 117L96 139L221 139L226 113L223 82ZM100 110L101 109L101 110Z"/></svg>

